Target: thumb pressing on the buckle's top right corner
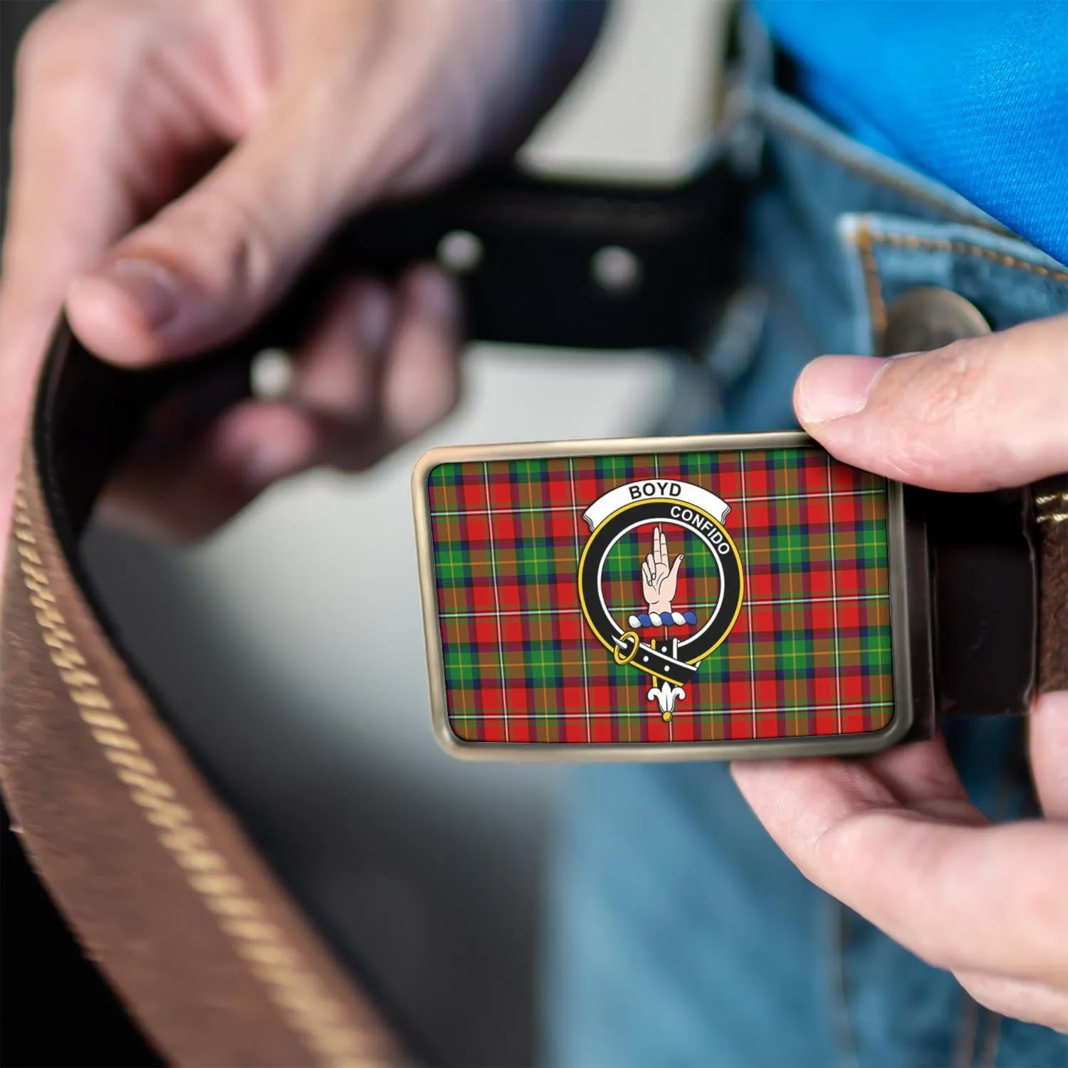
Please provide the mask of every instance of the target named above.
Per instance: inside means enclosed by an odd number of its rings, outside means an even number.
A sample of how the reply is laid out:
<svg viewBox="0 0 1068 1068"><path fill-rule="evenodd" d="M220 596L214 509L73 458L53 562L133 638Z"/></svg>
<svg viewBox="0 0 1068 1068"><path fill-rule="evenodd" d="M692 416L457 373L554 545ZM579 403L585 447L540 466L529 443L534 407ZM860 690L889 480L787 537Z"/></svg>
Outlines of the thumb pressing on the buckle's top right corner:
<svg viewBox="0 0 1068 1068"><path fill-rule="evenodd" d="M794 399L847 464L933 489L1024 485L1068 470L1068 317L892 360L822 357Z"/></svg>

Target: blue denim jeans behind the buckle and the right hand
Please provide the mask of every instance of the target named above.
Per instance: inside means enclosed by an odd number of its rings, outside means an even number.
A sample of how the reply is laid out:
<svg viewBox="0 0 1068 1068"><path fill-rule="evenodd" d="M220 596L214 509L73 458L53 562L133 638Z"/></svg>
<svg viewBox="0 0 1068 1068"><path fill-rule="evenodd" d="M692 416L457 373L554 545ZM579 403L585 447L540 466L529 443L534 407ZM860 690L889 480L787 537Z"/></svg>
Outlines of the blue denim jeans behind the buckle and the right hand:
<svg viewBox="0 0 1068 1068"><path fill-rule="evenodd" d="M766 182L750 208L745 272L763 319L754 330L742 316L747 336L713 346L706 374L720 414L701 428L794 425L803 364L870 352L873 323L915 286L960 293L994 329L1068 311L1068 284L1049 273L1059 265L959 197L769 85L754 87L754 100ZM1034 814L1019 722L943 727L991 818ZM981 1008L951 974L806 882L722 765L575 769L557 850L544 971L550 1064L1068 1066L1068 1037Z"/></svg>

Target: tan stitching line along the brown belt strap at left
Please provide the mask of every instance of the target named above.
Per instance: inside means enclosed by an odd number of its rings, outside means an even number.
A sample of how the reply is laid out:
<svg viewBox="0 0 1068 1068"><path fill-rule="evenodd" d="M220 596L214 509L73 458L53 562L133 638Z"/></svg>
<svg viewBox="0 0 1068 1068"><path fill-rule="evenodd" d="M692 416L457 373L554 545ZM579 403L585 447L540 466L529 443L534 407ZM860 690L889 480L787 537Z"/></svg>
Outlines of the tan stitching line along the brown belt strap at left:
<svg viewBox="0 0 1068 1068"><path fill-rule="evenodd" d="M342 1006L318 989L313 975L300 970L300 956L286 945L283 932L274 924L257 918L263 911L260 904L226 870L224 858L209 848L206 833L197 827L192 813L176 800L175 788L142 755L142 745L128 724L112 710L99 679L88 670L88 661L57 607L56 594L35 548L37 538L21 480L15 498L14 536L22 580L41 635L49 647L49 657L78 714L114 767L119 780L130 788L130 800L153 827L164 829L159 842L184 869L189 885L201 895L237 955L268 988L271 1001L285 1012L294 1031L334 1068L368 1064L361 1053L365 1042L360 1034L334 1022L344 1016Z"/></svg>

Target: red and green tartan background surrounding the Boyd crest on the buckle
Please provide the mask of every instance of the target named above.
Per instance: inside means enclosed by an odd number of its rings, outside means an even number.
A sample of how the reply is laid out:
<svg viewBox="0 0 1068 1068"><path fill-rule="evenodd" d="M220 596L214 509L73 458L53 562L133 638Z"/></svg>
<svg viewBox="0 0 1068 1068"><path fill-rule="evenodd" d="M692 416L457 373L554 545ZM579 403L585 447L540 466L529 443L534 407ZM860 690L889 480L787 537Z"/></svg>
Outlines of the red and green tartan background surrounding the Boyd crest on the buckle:
<svg viewBox="0 0 1068 1068"><path fill-rule="evenodd" d="M649 676L613 661L579 603L583 513L643 478L726 501L743 570L738 619L670 722L647 697ZM875 732L893 717L883 478L811 446L442 464L427 493L449 723L461 740L800 738ZM606 602L625 629L628 612L646 608L651 530L606 557ZM686 553L673 607L707 618L712 557L682 529L665 532L671 557Z"/></svg>

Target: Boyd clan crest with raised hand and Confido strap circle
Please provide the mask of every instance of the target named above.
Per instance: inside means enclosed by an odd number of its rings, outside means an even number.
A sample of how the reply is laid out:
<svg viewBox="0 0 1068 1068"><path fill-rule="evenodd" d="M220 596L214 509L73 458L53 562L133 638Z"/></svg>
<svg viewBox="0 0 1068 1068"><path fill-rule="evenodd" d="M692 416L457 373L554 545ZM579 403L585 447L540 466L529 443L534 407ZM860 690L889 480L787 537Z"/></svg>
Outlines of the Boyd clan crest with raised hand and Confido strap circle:
<svg viewBox="0 0 1068 1068"><path fill-rule="evenodd" d="M648 700L665 721L741 610L729 511L701 486L648 478L609 490L582 517L591 532L579 561L582 614L615 663L649 676ZM681 549L674 559L673 548Z"/></svg>

